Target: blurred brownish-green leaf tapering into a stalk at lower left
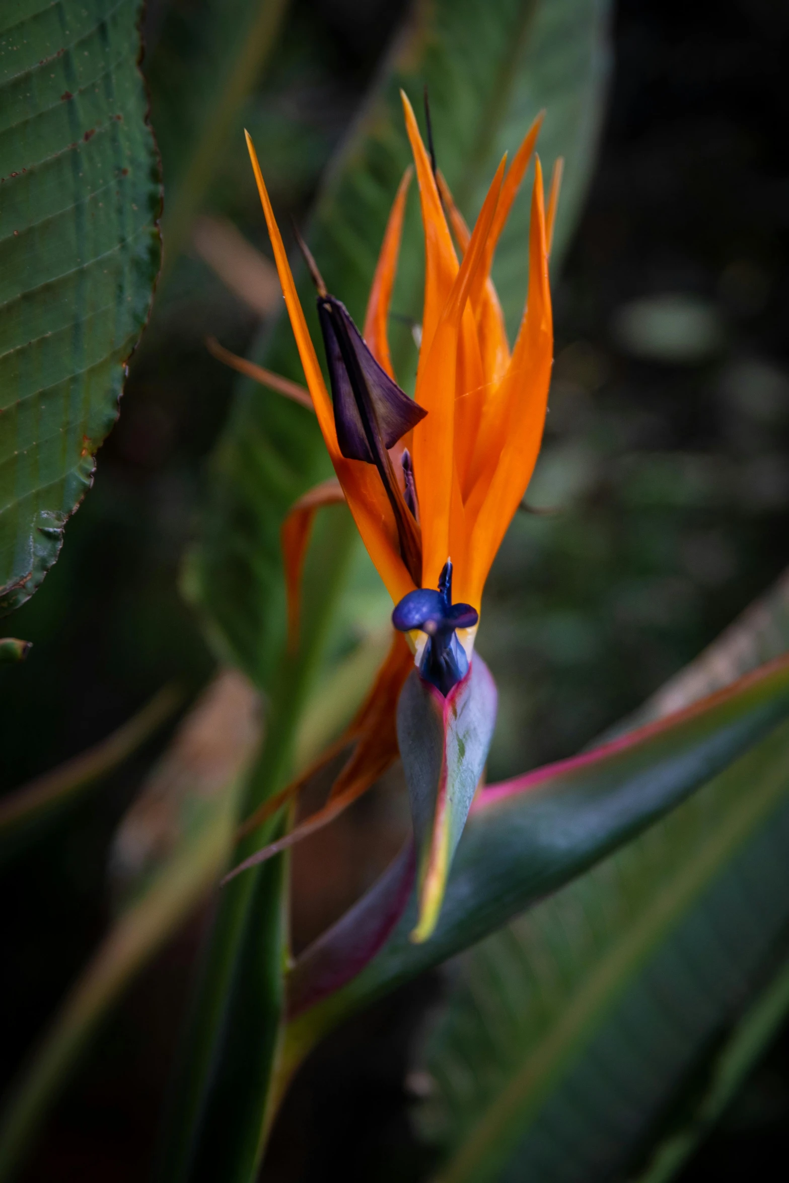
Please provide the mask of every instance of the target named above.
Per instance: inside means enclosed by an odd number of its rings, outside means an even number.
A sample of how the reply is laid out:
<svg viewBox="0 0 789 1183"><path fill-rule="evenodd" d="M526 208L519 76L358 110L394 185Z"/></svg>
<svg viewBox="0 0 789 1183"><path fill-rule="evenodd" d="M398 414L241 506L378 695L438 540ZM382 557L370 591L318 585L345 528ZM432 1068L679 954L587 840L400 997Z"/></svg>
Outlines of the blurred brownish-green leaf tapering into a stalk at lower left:
<svg viewBox="0 0 789 1183"><path fill-rule="evenodd" d="M14 1175L34 1144L79 1054L123 990L215 884L259 736L254 690L235 671L219 674L122 822L112 870L124 907L11 1092L0 1120L0 1179Z"/></svg>

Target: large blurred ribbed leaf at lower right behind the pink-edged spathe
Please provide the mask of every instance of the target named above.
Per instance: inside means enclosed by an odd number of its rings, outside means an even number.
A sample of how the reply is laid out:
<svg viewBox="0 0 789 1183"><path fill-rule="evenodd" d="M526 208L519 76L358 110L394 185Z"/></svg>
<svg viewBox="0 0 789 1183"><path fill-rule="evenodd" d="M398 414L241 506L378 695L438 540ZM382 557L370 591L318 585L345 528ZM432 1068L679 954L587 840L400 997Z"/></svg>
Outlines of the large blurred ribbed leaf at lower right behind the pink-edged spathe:
<svg viewBox="0 0 789 1183"><path fill-rule="evenodd" d="M788 646L784 578L638 719ZM632 1171L667 1127L647 1177L670 1178L789 1009L788 854L784 725L483 942L427 1049L436 1091L422 1125L446 1152L436 1178L594 1183Z"/></svg>

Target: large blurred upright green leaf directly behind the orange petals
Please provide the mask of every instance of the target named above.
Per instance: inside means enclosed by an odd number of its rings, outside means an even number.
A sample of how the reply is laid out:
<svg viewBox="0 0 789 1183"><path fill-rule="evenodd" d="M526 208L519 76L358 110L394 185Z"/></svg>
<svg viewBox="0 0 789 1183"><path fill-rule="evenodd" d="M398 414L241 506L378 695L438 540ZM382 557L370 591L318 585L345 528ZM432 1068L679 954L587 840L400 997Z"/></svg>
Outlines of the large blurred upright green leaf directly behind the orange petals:
<svg viewBox="0 0 789 1183"><path fill-rule="evenodd" d="M481 205L503 151L517 148L539 109L547 108L545 157L549 163L556 155L567 157L558 231L567 243L596 144L607 75L607 13L602 0L416 4L363 117L329 169L311 221L309 241L322 273L357 322L389 207L410 159L400 88L421 101L428 83L439 163L470 215ZM265 174L265 157L261 167ZM496 264L511 323L525 298L528 218L524 192ZM415 319L421 317L422 254L412 198L393 309ZM313 291L305 274L299 293L318 340ZM393 319L390 334L395 364L407 383L416 361L410 332ZM253 356L303 380L286 318L257 343ZM296 497L328 476L330 467L309 413L250 382L239 390L214 458L211 504L188 584L224 652L267 686L285 635L279 526Z"/></svg>

